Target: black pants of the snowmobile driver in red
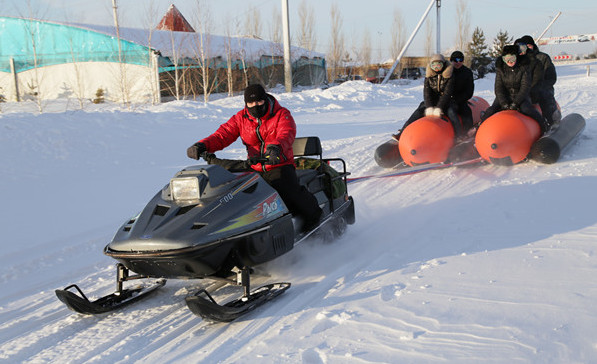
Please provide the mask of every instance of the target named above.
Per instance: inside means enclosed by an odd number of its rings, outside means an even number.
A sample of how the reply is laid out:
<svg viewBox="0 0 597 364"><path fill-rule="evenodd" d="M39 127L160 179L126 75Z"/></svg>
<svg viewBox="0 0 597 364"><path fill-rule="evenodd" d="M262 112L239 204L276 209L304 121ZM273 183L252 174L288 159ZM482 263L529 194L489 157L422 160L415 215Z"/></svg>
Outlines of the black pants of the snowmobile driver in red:
<svg viewBox="0 0 597 364"><path fill-rule="evenodd" d="M317 199L298 183L296 169L293 165L285 165L271 171L260 172L260 174L278 191L290 212L302 217L306 225L319 221L322 211Z"/></svg>

